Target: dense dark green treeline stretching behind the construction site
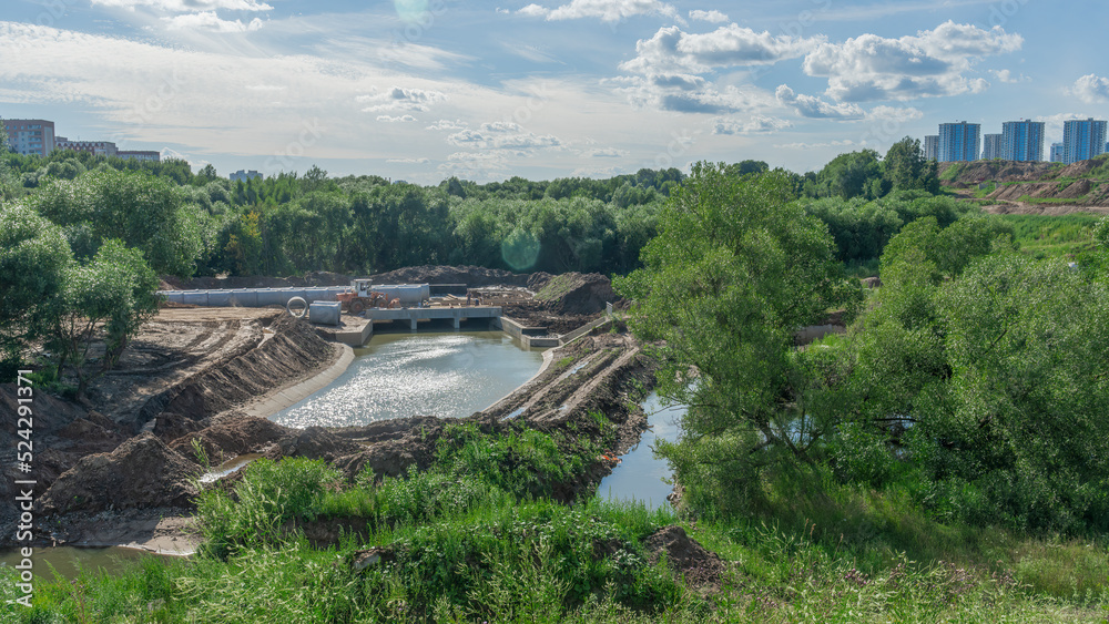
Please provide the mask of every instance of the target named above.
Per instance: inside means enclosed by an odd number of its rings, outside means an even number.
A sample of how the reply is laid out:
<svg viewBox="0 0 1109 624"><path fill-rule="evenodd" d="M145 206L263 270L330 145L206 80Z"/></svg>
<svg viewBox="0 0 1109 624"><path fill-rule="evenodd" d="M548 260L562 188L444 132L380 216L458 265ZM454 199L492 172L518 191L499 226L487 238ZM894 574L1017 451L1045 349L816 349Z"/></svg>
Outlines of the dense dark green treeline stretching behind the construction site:
<svg viewBox="0 0 1109 624"><path fill-rule="evenodd" d="M303 175L231 181L212 165L193 173L181 160L73 151L47 157L7 153L0 168L0 195L59 225L79 260L119 238L144 248L160 275L185 278L372 274L423 264L624 275L640 266L640 250L655 236L665 202L686 178L669 167L609 178L513 176L479 184L449 177L421 186L378 175L329 177L313 166ZM939 192L935 170L919 142L906 137L885 156L862 150L816 173L773 171L787 176L795 200L826 217L845 248L842 259L873 264L903 223L937 209L963 212L950 200L924 205ZM743 177L772 170L745 160L725 171ZM118 219L114 226L95 223L112 212L106 204L131 203L120 192L154 202L132 212L156 223L131 232Z"/></svg>

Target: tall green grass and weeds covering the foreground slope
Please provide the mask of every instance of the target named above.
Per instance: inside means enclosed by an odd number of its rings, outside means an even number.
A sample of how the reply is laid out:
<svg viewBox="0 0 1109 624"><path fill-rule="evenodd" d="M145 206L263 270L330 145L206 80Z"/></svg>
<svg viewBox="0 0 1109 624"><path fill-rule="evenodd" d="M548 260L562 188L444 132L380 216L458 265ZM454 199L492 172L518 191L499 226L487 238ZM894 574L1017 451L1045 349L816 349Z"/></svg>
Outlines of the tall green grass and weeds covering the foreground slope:
<svg viewBox="0 0 1109 624"><path fill-rule="evenodd" d="M611 423L594 413L579 426ZM0 621L1091 622L1107 613L1103 540L946 525L906 492L808 469L780 472L745 518L551 499L597 449L458 426L430 470L376 484L370 474L345 483L318 461L258 460L233 495L202 494L201 555L41 584L31 610L3 603L14 597L3 579ZM327 518L365 534L315 549L295 529ZM664 559L650 561L643 538L673 523L722 557L719 586L692 589ZM369 546L386 556L354 570Z"/></svg>

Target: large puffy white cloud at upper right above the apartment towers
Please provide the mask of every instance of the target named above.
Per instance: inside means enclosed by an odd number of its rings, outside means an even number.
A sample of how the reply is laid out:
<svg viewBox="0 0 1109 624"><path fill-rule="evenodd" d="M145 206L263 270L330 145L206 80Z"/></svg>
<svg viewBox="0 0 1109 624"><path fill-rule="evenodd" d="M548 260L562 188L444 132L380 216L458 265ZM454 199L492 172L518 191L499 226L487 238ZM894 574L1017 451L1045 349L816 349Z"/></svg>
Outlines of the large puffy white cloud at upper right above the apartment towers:
<svg viewBox="0 0 1109 624"><path fill-rule="evenodd" d="M803 63L806 74L826 76L827 94L842 102L913 100L980 92L984 79L968 79L977 59L1019 50L1024 39L1000 27L984 30L947 21L935 30L887 39L862 34L823 42Z"/></svg>

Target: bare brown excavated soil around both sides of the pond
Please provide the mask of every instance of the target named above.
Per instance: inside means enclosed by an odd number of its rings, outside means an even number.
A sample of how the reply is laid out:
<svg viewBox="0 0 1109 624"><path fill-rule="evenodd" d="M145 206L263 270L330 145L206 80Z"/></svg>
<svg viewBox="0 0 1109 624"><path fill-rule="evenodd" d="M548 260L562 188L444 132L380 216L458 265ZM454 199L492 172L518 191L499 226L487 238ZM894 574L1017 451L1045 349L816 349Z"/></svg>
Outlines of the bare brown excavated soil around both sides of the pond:
<svg viewBox="0 0 1109 624"><path fill-rule="evenodd" d="M454 283L459 270L479 283L484 277L502 283L506 277L489 269L475 273L474 267L416 267L410 275L411 280L438 275ZM546 274L526 277L525 285L540 289L550 282ZM611 290L611 285L603 276L574 275L561 283L557 296L541 303L547 306L542 314L559 333L576 329L596 313L554 310L603 310L603 301L598 303L603 295L598 293L606 288ZM211 464L244 453L323 459L348 479L366 470L380 479L404 475L410 467L428 468L444 427L452 420L414 417L294 430L244 412L254 401L314 376L336 357L337 346L278 309L161 310L129 345L119 367L93 382L83 403L44 391L35 395L40 543L104 544L112 535L119 538L116 543L176 538L195 542L184 526L196 493L191 478L205 468L196 448ZM604 440L610 456L639 440L647 419L633 399L651 386L653 364L629 336L584 336L550 351L549 361L523 389L467 420L485 431L507 428L508 416L542 430L572 429L579 437ZM0 405L14 411L13 385L0 385ZM604 413L613 424L599 424L592 411ZM10 468L14 457L8 457L16 448L11 437L0 431L6 453L0 459L17 477ZM557 497L573 500L613 466L597 458L584 477L557 484ZM237 478L225 478L221 487ZM11 483L0 481L0 494L12 495ZM0 521L10 522L12 513L11 505L0 505ZM0 538L0 545L12 538L10 532Z"/></svg>

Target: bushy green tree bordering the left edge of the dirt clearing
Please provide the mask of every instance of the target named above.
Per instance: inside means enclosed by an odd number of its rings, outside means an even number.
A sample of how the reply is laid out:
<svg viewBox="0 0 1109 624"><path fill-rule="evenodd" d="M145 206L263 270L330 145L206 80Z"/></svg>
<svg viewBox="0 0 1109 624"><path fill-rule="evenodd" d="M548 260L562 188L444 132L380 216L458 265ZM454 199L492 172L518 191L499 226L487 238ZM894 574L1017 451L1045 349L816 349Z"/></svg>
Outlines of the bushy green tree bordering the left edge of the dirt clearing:
<svg viewBox="0 0 1109 624"><path fill-rule="evenodd" d="M115 366L142 324L157 313L157 286L142 253L115 239L105 241L92 262L65 272L49 345L61 354L59 372L68 366L78 378L79 397ZM99 368L90 372L85 364L98 336L104 350Z"/></svg>

